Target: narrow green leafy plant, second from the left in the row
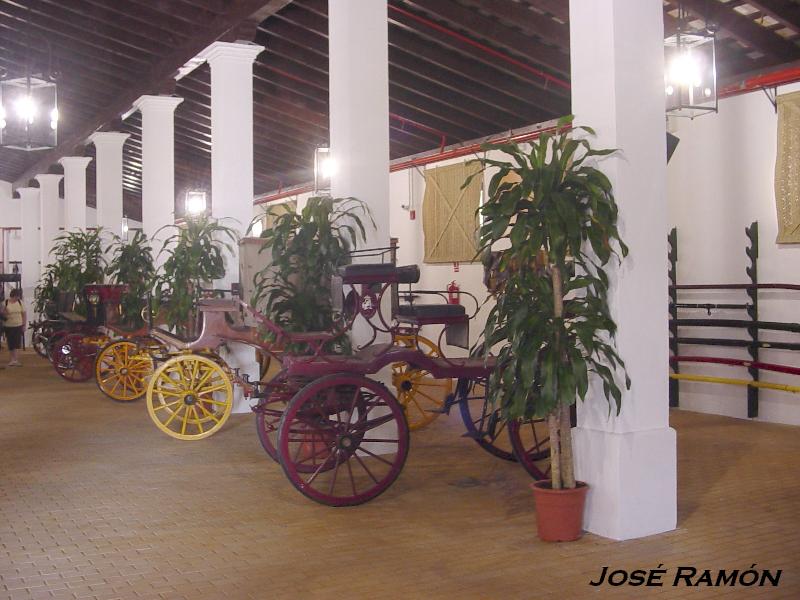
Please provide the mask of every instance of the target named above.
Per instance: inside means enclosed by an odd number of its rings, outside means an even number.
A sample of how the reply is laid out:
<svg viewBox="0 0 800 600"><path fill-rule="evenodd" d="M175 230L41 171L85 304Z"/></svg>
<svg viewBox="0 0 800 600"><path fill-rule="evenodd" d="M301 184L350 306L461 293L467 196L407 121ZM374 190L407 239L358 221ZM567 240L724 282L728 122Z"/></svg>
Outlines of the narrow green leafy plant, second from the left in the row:
<svg viewBox="0 0 800 600"><path fill-rule="evenodd" d="M115 235L106 254L111 258L106 274L113 283L128 286L121 300L122 319L131 327L141 327L142 309L156 275L150 241L142 231L136 231L130 240Z"/></svg>

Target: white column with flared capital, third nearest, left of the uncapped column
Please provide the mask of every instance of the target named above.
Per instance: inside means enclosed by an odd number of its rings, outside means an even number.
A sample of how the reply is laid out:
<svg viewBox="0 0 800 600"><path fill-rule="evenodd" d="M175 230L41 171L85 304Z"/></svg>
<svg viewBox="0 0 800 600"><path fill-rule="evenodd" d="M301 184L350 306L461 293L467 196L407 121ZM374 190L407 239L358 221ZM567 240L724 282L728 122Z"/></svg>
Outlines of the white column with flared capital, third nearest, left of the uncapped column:
<svg viewBox="0 0 800 600"><path fill-rule="evenodd" d="M204 52L211 68L211 214L244 235L253 217L253 61L255 44L214 42ZM239 248L225 252L224 287L239 281ZM232 345L226 360L253 379L252 348ZM234 410L248 405L237 388Z"/></svg>

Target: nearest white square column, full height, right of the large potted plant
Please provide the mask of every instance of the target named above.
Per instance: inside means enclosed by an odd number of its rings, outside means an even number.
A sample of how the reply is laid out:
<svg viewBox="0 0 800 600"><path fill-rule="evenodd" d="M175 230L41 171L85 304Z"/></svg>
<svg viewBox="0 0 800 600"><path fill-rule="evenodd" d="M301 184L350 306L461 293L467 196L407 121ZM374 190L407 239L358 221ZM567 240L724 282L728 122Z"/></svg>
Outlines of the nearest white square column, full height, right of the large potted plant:
<svg viewBox="0 0 800 600"><path fill-rule="evenodd" d="M599 167L620 206L630 255L613 269L617 345L633 385L608 416L602 391L579 404L577 475L591 486L586 528L614 539L674 529L675 431L669 427L667 206L661 0L570 0L572 107L620 153Z"/></svg>

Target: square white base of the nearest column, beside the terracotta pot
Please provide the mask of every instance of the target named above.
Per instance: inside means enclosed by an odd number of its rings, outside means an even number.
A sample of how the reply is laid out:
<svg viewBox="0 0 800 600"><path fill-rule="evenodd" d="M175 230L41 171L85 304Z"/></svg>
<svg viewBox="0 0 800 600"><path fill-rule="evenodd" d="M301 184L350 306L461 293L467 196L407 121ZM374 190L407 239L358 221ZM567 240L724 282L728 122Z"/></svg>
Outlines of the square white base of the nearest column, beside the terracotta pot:
<svg viewBox="0 0 800 600"><path fill-rule="evenodd" d="M575 474L589 484L586 531L629 540L677 526L677 443L671 427L572 430Z"/></svg>

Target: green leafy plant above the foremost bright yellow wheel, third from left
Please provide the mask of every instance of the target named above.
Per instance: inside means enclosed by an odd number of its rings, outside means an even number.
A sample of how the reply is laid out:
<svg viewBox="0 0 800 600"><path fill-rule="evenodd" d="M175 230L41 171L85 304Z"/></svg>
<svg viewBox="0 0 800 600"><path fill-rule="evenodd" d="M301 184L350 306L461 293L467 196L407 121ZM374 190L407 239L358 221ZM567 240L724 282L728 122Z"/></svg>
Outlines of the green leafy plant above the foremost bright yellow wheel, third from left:
<svg viewBox="0 0 800 600"><path fill-rule="evenodd" d="M167 325L182 335L192 336L200 289L225 276L223 251L233 251L236 232L207 216L187 219L183 225L167 225L166 228L175 233L164 240L161 247L160 253L166 253L167 259L157 278L157 302Z"/></svg>

